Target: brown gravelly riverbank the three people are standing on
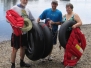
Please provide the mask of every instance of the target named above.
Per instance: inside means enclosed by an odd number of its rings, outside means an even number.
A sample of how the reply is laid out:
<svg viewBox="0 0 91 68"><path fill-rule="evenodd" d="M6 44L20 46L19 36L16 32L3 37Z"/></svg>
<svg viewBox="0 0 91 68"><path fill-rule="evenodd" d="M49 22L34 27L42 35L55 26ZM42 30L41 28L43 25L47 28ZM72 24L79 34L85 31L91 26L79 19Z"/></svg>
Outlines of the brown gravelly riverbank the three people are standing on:
<svg viewBox="0 0 91 68"><path fill-rule="evenodd" d="M87 46L84 51L83 56L79 60L78 64L74 68L91 68L91 24L81 26L82 32L85 34ZM10 55L12 48L10 47L10 40L3 41L0 43L0 68L10 68ZM64 68L61 64L63 60L64 50L59 49L59 42L54 46L52 57L53 61L46 61L42 63L40 60L31 61L27 57L25 57L25 61L31 64L31 68ZM19 51L16 57L16 68L20 68L19 66Z"/></svg>

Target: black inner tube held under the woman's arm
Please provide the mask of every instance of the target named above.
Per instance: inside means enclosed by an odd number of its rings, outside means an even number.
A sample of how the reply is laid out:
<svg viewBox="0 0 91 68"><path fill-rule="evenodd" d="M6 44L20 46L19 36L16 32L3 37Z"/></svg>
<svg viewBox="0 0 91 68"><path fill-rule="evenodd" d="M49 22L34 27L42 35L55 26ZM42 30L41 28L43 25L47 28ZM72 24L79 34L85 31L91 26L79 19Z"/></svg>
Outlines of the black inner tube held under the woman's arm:
<svg viewBox="0 0 91 68"><path fill-rule="evenodd" d="M67 38L66 38L66 33L67 33L67 29L69 27L72 27L72 25L74 25L76 22L75 21L66 21L64 22L60 29L59 29L59 34L58 34L58 38L59 38L59 42L60 45L65 48L66 47L66 43L67 43Z"/></svg>

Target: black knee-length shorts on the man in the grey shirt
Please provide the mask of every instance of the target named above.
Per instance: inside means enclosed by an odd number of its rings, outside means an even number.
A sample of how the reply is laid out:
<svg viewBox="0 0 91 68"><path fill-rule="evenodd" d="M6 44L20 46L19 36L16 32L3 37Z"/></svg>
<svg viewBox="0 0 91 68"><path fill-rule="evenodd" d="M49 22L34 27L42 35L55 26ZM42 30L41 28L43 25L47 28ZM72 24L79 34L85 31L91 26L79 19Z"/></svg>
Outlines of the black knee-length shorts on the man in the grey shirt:
<svg viewBox="0 0 91 68"><path fill-rule="evenodd" d="M16 36L15 34L12 33L11 47L19 49L20 47L27 46L27 45L28 45L27 34Z"/></svg>

